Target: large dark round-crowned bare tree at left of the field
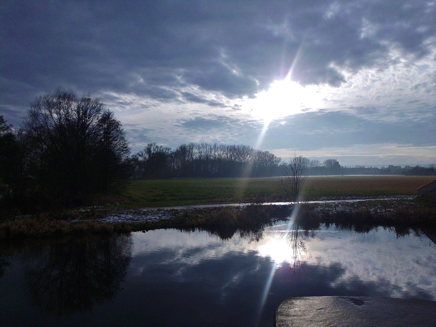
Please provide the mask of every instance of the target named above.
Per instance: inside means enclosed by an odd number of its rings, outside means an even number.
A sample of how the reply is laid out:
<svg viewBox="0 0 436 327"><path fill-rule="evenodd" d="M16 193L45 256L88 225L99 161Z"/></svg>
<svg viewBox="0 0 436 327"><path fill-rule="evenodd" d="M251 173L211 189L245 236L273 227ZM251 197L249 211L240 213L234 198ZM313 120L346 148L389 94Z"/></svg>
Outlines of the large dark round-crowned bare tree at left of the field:
<svg viewBox="0 0 436 327"><path fill-rule="evenodd" d="M123 177L129 154L121 123L103 102L57 89L32 102L24 119L31 165L41 191L81 202Z"/></svg>

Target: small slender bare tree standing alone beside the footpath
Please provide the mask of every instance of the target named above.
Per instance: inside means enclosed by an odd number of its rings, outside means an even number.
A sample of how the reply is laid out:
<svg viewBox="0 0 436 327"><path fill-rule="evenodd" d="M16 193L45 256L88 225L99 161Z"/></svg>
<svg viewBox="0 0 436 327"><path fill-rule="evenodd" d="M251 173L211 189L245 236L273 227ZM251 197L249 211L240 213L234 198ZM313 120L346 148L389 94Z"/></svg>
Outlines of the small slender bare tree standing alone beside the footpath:
<svg viewBox="0 0 436 327"><path fill-rule="evenodd" d="M294 153L289 158L289 164L283 166L283 177L280 179L280 188L286 198L298 203L301 189L307 179L310 160Z"/></svg>

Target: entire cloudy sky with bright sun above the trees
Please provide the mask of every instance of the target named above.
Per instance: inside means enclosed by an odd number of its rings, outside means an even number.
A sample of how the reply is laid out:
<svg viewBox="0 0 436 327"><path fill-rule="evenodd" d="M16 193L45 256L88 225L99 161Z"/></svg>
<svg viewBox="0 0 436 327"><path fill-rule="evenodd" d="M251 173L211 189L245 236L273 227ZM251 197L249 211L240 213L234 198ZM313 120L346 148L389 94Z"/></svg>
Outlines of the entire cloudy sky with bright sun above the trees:
<svg viewBox="0 0 436 327"><path fill-rule="evenodd" d="M102 99L133 151L436 163L435 1L1 1L0 24L14 126L61 86Z"/></svg>

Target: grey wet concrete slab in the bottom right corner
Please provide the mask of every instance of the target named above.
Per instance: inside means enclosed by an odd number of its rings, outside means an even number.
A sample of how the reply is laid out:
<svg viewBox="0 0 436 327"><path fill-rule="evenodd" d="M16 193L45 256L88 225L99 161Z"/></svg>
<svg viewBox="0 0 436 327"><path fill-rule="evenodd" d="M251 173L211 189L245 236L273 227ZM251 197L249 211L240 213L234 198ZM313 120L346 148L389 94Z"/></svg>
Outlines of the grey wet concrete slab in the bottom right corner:
<svg viewBox="0 0 436 327"><path fill-rule="evenodd" d="M436 326L436 301L368 296L313 296L283 300L276 327Z"/></svg>

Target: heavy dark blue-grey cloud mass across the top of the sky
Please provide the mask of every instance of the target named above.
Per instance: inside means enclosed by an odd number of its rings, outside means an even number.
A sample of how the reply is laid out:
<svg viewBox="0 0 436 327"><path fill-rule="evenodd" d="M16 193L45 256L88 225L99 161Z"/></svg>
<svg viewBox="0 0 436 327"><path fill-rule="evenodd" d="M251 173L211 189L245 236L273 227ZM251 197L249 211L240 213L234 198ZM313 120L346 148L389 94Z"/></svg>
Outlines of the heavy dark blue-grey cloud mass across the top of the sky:
<svg viewBox="0 0 436 327"><path fill-rule="evenodd" d="M286 75L303 44L295 79L339 85L344 76L332 63L351 70L379 67L391 44L422 56L436 26L435 6L427 2L228 6L210 1L199 6L133 1L102 7L44 1L3 5L8 78L46 87L64 80L91 91L128 91L134 73L154 86L187 83L227 95L253 95L256 81L267 87Z"/></svg>

